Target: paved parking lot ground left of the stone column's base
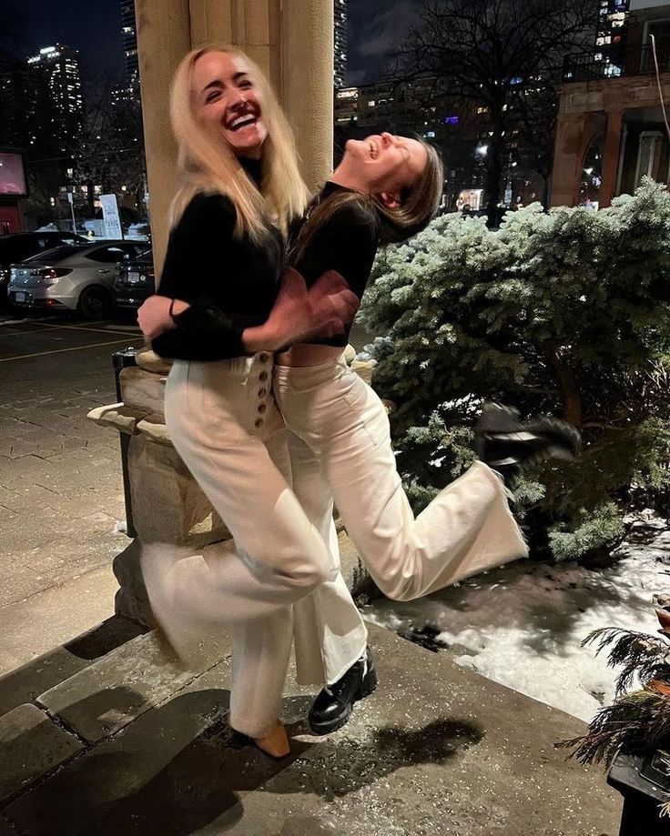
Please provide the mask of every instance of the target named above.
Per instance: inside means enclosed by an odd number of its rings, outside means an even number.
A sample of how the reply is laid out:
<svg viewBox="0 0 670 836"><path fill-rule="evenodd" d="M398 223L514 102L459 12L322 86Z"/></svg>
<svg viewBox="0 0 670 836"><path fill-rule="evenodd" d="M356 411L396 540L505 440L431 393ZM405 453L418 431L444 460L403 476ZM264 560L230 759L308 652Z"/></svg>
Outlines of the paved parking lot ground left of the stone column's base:
<svg viewBox="0 0 670 836"><path fill-rule="evenodd" d="M117 399L112 352L141 344L130 318L0 316L0 674L113 611L119 445L86 413Z"/></svg>

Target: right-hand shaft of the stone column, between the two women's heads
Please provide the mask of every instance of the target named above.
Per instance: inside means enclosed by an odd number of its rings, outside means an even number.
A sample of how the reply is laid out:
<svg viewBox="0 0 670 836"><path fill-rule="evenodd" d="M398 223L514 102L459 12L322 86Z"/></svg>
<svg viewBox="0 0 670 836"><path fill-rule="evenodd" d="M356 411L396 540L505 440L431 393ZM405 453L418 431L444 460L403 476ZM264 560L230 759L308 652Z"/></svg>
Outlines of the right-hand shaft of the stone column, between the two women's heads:
<svg viewBox="0 0 670 836"><path fill-rule="evenodd" d="M310 188L332 170L333 0L284 0L282 100Z"/></svg>

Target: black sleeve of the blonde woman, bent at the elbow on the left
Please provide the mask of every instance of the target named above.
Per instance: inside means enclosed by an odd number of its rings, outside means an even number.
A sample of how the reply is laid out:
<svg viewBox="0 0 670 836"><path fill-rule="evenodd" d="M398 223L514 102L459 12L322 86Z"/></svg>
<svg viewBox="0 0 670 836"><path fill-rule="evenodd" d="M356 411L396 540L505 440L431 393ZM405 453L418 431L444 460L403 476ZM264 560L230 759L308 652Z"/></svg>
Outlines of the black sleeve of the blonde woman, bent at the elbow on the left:
<svg viewBox="0 0 670 836"><path fill-rule="evenodd" d="M165 267L157 293L182 299L190 307L175 317L176 328L155 337L153 350L163 358L219 360L240 357L248 352L242 346L242 333L258 325L252 317L230 316L208 297L211 280L212 243L221 270L227 256L226 244L235 228L235 209L223 195L197 195L188 204L170 235ZM208 269L198 269L194 258ZM204 275L203 275L204 274Z"/></svg>

